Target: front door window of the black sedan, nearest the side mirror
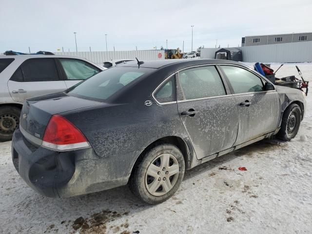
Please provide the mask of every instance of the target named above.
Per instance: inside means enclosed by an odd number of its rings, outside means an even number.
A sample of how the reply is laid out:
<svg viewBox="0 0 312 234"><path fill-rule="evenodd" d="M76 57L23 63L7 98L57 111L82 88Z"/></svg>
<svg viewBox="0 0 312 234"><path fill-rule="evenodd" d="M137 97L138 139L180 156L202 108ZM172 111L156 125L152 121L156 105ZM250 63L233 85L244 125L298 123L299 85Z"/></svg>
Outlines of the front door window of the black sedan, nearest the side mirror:
<svg viewBox="0 0 312 234"><path fill-rule="evenodd" d="M263 91L261 78L253 73L234 66L221 66L235 94Z"/></svg>

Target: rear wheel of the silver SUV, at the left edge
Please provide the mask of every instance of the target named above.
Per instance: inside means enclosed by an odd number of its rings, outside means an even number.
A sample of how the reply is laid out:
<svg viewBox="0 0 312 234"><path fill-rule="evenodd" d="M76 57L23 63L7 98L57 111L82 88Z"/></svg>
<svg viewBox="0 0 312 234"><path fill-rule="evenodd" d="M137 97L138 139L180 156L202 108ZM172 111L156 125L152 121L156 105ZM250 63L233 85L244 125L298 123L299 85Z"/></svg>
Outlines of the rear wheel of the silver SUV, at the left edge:
<svg viewBox="0 0 312 234"><path fill-rule="evenodd" d="M20 108L15 106L0 106L0 141L11 140L19 123Z"/></svg>

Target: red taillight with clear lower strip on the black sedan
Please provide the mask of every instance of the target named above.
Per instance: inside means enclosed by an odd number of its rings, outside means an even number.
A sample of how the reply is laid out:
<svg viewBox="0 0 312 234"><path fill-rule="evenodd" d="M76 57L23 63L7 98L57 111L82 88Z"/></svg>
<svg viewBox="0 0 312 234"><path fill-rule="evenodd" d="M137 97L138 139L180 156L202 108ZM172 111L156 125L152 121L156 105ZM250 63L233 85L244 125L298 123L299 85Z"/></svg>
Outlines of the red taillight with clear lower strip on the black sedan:
<svg viewBox="0 0 312 234"><path fill-rule="evenodd" d="M42 146L56 151L90 147L86 137L66 118L53 115L44 131Z"/></svg>

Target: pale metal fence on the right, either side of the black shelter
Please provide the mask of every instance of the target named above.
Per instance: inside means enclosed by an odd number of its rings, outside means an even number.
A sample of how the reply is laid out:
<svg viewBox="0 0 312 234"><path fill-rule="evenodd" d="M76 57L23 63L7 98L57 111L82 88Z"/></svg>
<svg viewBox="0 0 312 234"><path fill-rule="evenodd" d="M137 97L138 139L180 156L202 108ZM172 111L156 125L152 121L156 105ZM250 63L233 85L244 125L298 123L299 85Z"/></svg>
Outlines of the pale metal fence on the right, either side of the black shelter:
<svg viewBox="0 0 312 234"><path fill-rule="evenodd" d="M244 62L312 62L312 41L239 47ZM202 59L215 59L219 48L203 48Z"/></svg>

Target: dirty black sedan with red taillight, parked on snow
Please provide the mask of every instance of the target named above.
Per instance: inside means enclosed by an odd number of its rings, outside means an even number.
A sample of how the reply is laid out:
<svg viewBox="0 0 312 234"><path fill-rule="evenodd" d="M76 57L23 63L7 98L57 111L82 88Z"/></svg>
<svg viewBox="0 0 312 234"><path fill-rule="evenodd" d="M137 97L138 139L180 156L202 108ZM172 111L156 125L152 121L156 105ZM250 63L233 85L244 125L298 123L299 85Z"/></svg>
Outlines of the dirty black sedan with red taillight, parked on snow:
<svg viewBox="0 0 312 234"><path fill-rule="evenodd" d="M128 184L172 196L184 171L258 140L296 136L303 92L227 60L128 62L24 102L12 140L26 183L51 197Z"/></svg>

